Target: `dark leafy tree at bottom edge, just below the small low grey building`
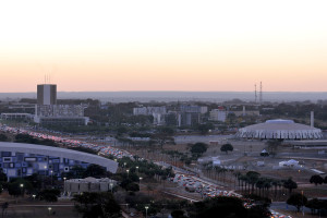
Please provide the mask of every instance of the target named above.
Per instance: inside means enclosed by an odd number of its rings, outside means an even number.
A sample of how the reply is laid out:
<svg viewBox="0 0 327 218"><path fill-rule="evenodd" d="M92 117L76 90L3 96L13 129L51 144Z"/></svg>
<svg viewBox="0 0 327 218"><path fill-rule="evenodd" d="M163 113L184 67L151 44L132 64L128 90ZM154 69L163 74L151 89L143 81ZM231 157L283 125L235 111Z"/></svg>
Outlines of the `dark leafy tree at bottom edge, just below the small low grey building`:
<svg viewBox="0 0 327 218"><path fill-rule="evenodd" d="M83 218L119 218L121 208L110 192L85 192L74 195L75 208L83 214Z"/></svg>

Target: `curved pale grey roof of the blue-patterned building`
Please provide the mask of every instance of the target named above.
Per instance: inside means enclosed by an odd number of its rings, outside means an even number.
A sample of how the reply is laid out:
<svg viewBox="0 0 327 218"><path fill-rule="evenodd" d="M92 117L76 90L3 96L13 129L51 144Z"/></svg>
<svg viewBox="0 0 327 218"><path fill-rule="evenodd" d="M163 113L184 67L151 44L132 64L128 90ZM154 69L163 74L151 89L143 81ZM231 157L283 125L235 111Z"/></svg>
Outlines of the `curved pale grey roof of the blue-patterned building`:
<svg viewBox="0 0 327 218"><path fill-rule="evenodd" d="M110 160L108 158L92 155L88 153L82 153L73 149L45 146L45 145L35 145L35 144L25 144L25 143L8 143L0 142L0 152L14 152L14 153L26 153L26 154L36 154L45 155L51 157L60 157L72 160L78 160L84 162L89 162L94 165L99 165L105 167L107 171L116 173L118 169L118 162Z"/></svg>

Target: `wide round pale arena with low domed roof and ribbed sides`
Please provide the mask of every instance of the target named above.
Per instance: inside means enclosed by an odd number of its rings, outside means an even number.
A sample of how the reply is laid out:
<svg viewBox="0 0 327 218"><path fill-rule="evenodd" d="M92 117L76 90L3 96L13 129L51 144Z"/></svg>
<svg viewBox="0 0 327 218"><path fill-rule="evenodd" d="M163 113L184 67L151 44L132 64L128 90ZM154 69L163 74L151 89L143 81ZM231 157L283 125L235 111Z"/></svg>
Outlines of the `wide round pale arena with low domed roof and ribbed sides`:
<svg viewBox="0 0 327 218"><path fill-rule="evenodd" d="M294 123L292 120L267 120L265 123L242 128L238 137L259 140L318 140L322 130Z"/></svg>

